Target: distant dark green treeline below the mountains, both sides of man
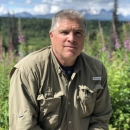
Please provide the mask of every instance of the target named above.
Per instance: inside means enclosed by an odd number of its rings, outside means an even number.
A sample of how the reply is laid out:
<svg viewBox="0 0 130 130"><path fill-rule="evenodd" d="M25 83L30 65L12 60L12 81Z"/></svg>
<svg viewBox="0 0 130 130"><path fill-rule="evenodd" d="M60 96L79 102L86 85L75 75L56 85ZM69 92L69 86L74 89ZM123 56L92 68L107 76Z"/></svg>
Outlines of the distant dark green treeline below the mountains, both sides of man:
<svg viewBox="0 0 130 130"><path fill-rule="evenodd" d="M97 32L99 31L99 21L86 21L86 22L87 22L88 35L91 42L91 40L94 40L96 38ZM119 28L122 26L122 23L124 22L119 22ZM100 21L100 24L102 26L104 35L108 36L106 37L105 40L108 40L111 34L112 21ZM18 31L20 28L21 34L26 38L25 40L29 51L38 50L44 46L51 44L48 35L51 26L50 19L36 19L36 18L18 19L15 18L14 16L0 17L0 33L3 36L2 45L5 51L8 51L10 47L9 38L11 29L13 30L13 27L11 26L15 27L14 28L15 37L18 37L19 35Z"/></svg>

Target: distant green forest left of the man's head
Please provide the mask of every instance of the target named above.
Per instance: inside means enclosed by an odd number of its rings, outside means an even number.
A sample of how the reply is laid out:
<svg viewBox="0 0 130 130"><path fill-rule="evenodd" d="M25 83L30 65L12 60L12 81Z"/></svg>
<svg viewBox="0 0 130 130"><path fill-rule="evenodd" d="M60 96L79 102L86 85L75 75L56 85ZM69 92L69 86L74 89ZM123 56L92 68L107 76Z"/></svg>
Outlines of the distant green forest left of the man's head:
<svg viewBox="0 0 130 130"><path fill-rule="evenodd" d="M18 18L14 18L18 30ZM46 45L50 45L49 29L50 19L21 18L22 35L26 37L29 52L38 50ZM0 31L3 35L3 47L5 50L9 47L9 19L0 17ZM18 39L17 39L18 40ZM33 49L30 46L33 46Z"/></svg>

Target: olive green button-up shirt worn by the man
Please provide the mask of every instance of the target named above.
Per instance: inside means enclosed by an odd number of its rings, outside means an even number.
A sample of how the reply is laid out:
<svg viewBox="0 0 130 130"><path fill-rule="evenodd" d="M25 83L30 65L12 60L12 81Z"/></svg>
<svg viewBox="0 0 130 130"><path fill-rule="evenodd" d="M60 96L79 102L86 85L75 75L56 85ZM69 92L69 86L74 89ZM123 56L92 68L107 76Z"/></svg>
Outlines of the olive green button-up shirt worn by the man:
<svg viewBox="0 0 130 130"><path fill-rule="evenodd" d="M108 130L111 114L105 67L84 53L70 80L51 46L29 54L11 71L10 130Z"/></svg>

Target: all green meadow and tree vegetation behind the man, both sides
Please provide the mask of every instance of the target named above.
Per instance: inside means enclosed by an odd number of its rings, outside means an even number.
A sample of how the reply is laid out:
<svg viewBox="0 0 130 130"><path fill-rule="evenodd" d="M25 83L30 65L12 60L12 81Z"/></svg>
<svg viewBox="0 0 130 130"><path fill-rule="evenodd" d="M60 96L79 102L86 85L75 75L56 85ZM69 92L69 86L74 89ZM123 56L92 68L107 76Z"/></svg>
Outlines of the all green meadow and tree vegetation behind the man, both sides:
<svg viewBox="0 0 130 130"><path fill-rule="evenodd" d="M18 50L10 52L7 21L6 18L0 21L0 35L3 36L3 49L0 52L0 130L9 129L8 94L11 68L20 58L50 45L50 20L21 19L19 24L18 19L15 19L21 31L20 36L24 36L24 39L17 39L20 40ZM112 25L111 21L88 21L88 34L83 51L101 60L106 66L113 107L109 129L130 130L130 23L120 22L120 33L114 34L114 37L111 32Z"/></svg>

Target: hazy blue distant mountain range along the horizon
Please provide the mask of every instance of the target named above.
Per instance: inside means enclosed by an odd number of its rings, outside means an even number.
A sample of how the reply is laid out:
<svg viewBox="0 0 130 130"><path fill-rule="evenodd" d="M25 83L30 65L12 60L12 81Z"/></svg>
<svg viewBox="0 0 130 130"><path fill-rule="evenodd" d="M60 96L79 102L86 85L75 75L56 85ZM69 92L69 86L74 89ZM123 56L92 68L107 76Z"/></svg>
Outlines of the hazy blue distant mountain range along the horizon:
<svg viewBox="0 0 130 130"><path fill-rule="evenodd" d="M97 11L96 9L83 9L79 10L87 20L112 20L112 10L105 10L101 9L100 11ZM8 14L6 15L1 15L0 17L7 17ZM45 15L32 15L28 12L21 12L21 13L16 13L15 17L19 18L45 18L45 19L51 19L54 16L54 14L45 14ZM120 21L130 21L130 15L125 17L122 14L118 15L118 18Z"/></svg>

